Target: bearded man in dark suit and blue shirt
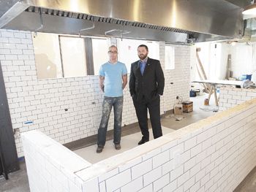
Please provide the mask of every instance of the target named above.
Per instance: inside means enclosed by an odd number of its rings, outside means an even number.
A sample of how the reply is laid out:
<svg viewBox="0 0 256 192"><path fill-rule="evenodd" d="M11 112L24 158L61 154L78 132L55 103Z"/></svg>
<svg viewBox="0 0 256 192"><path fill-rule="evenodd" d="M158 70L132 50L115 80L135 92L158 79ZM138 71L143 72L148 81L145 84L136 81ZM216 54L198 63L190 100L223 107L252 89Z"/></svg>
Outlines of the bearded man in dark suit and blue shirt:
<svg viewBox="0 0 256 192"><path fill-rule="evenodd" d="M149 140L148 112L154 139L162 136L160 96L164 92L165 77L160 62L148 58L148 47L146 45L138 47L138 57L140 60L131 66L129 92L131 93L140 130L143 134L142 139L138 142L138 145L141 145Z"/></svg>

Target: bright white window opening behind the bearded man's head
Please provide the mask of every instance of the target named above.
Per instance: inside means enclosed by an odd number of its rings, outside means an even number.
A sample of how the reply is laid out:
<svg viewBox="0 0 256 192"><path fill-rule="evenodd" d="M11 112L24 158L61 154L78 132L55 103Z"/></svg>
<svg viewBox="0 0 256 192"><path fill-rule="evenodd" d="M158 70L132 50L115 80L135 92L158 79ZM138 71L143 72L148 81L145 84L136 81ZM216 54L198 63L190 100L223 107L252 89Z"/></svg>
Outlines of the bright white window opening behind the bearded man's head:
<svg viewBox="0 0 256 192"><path fill-rule="evenodd" d="M118 39L118 61L127 66L130 72L131 64L138 61L137 48L139 45L148 46L148 57L159 60L159 42L149 42L136 39Z"/></svg>

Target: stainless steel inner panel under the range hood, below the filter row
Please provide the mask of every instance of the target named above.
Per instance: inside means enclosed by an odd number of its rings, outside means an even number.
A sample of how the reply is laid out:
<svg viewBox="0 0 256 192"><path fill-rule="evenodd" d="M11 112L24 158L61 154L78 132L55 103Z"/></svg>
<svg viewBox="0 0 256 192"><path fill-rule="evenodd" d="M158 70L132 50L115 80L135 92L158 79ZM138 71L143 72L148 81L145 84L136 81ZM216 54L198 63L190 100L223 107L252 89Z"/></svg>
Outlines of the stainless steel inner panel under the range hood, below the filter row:
<svg viewBox="0 0 256 192"><path fill-rule="evenodd" d="M84 15L84 17L91 18L90 15ZM22 20L26 20L26 23L22 23ZM94 17L94 20L92 20L92 18L91 20L87 20L42 14L42 20L44 23L44 27L38 32L79 35L80 29L91 28L91 26L94 25L94 28L80 31L80 36L148 39L164 42L181 42L181 44L187 42L188 35L181 30L160 30L160 27L157 28L157 26L148 25L148 28L146 28L145 24L142 23L127 22L127 25L121 25L121 21L115 19L112 19L111 23L109 23L110 20L105 20L104 22L102 18L99 17ZM11 23L7 24L7 26L4 26L4 28L12 28L18 30L22 28L22 30L24 31L35 31L35 29L38 28L39 25L39 15L37 13L23 12L18 18L15 18L14 20L12 20ZM165 29L170 30L170 28ZM129 33L127 33L128 31ZM105 34L105 32L107 33ZM192 34L192 32L189 31L188 33Z"/></svg>

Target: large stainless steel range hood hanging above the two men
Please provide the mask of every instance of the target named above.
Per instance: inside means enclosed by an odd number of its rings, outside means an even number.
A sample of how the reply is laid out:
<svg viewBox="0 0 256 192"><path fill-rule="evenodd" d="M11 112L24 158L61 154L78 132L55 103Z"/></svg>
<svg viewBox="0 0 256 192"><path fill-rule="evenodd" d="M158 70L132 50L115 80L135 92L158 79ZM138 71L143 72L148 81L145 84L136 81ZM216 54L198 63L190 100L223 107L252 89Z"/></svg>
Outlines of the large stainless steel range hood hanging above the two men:
<svg viewBox="0 0 256 192"><path fill-rule="evenodd" d="M241 38L242 9L230 1L10 1L6 12L0 9L0 28L175 43Z"/></svg>

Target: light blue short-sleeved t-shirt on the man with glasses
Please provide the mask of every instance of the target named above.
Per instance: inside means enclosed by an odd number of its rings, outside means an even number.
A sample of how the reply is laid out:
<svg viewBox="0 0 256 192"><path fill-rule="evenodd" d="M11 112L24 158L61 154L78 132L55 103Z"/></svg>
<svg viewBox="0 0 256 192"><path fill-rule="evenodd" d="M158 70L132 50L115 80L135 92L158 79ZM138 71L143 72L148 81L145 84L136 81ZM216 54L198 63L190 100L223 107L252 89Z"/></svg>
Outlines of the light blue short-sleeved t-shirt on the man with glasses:
<svg viewBox="0 0 256 192"><path fill-rule="evenodd" d="M105 77L104 95L109 97L123 96L123 79L122 76L127 74L125 64L117 61L116 64L107 62L99 69L99 75Z"/></svg>

